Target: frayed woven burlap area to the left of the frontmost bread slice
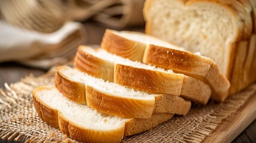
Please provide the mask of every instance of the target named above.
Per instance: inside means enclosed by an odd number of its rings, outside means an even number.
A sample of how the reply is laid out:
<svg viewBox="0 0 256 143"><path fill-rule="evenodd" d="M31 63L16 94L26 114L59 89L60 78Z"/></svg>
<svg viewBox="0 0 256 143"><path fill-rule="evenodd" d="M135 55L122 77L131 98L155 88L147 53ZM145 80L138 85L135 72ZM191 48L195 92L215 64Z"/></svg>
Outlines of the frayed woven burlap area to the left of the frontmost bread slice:
<svg viewBox="0 0 256 143"><path fill-rule="evenodd" d="M24 117L23 114L20 115L18 111L14 111L21 108L20 106L32 104L31 93L36 87L42 85L53 86L55 69L56 67L53 67L46 74L39 77L29 74L20 82L10 86L5 83L5 89L0 88L0 142L76 142L67 138L60 130L46 125L43 121L40 124L36 123L38 124L36 127L30 127L30 122L26 119L41 120L35 113L33 105L23 109L27 112L27 117ZM36 117L29 114L32 112L31 110L33 110L33 114L36 114ZM47 128L48 131L45 131L44 128Z"/></svg>

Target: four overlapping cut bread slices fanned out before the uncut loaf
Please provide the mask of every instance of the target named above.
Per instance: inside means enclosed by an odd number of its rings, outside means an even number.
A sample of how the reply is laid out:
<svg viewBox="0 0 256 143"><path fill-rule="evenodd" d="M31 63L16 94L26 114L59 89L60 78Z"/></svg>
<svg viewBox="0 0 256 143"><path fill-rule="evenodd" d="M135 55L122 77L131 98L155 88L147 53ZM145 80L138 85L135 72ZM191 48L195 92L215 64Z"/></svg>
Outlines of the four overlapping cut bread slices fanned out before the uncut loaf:
<svg viewBox="0 0 256 143"><path fill-rule="evenodd" d="M120 142L186 115L191 102L226 100L230 86L211 59L137 32L106 30L101 48L78 47L74 66L57 67L55 87L36 88L33 101L81 142Z"/></svg>

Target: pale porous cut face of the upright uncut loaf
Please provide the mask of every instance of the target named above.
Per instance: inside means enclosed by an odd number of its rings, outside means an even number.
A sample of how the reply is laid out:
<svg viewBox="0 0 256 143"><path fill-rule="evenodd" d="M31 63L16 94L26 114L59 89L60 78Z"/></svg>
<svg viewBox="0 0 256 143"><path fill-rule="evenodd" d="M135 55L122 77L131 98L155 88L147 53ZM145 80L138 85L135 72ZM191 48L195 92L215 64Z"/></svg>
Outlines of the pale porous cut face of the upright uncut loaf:
<svg viewBox="0 0 256 143"><path fill-rule="evenodd" d="M144 17L146 33L191 52L211 58L227 76L233 43L239 36L234 13L217 2L147 1ZM160 25L159 25L160 24Z"/></svg>

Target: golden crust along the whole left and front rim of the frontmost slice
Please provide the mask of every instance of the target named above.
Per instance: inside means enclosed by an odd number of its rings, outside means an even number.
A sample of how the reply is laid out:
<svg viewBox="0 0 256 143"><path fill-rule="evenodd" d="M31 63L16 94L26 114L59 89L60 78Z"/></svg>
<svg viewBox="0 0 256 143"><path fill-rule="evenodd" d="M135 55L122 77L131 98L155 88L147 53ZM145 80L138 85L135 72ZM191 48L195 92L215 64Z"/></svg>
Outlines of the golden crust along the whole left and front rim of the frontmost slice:
<svg viewBox="0 0 256 143"><path fill-rule="evenodd" d="M51 89L48 86L41 86L33 91L33 102L35 109L42 120L55 128L60 128L63 134L81 142L120 142L124 136L125 123L118 129L113 130L95 130L86 129L79 126L79 123L73 123L67 120L60 111L45 105L39 100L37 92L45 89Z"/></svg>

